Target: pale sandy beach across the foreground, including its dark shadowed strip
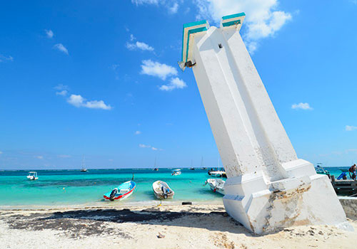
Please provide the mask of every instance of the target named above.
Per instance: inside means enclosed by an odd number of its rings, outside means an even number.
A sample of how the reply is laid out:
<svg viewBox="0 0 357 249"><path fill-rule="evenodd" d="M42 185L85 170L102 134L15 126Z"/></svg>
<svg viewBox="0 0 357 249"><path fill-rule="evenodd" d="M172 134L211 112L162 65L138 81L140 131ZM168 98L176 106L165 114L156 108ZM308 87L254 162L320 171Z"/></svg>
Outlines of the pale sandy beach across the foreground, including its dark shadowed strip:
<svg viewBox="0 0 357 249"><path fill-rule="evenodd" d="M254 235L221 204L0 211L0 248L356 248L354 232L298 226Z"/></svg>

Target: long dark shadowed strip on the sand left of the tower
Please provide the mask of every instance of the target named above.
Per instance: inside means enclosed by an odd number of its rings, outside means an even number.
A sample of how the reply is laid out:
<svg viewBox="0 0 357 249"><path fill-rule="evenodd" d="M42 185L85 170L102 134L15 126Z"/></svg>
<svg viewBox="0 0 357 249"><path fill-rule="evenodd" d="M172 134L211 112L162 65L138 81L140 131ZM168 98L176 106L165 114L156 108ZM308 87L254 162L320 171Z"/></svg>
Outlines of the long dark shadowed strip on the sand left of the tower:
<svg viewBox="0 0 357 249"><path fill-rule="evenodd" d="M190 207L182 211L160 211L159 208L146 208L131 211L124 208L116 209L81 209L74 211L31 213L29 215L13 215L6 218L10 228L41 231L54 229L66 231L72 237L81 235L116 234L129 238L123 231L111 231L110 223L141 223L162 226L183 226L189 228L206 228L210 231L243 233L247 236L257 236L250 233L240 223L230 218L224 208L214 208L210 213L205 208Z"/></svg>

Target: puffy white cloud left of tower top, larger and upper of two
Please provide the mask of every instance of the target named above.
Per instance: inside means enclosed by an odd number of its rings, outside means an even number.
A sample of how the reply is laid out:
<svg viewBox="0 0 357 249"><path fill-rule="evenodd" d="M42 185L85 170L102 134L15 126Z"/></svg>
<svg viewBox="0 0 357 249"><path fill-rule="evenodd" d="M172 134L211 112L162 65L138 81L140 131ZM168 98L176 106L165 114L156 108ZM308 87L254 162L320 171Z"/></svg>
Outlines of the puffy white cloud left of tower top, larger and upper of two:
<svg viewBox="0 0 357 249"><path fill-rule="evenodd" d="M177 70L171 65L161 64L152 60L143 60L141 65L141 74L151 75L166 80L170 75L177 75Z"/></svg>

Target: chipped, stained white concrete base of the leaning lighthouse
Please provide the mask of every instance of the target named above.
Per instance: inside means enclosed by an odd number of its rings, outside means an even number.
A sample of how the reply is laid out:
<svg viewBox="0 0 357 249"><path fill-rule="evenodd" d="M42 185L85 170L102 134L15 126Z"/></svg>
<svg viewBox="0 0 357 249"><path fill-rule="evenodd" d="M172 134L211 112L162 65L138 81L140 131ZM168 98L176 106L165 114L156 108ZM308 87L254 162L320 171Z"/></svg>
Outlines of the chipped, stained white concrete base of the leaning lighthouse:
<svg viewBox="0 0 357 249"><path fill-rule="evenodd" d="M353 231L328 176L298 159L283 164L289 177L267 183L256 171L227 179L227 213L256 234L303 225L333 225Z"/></svg>

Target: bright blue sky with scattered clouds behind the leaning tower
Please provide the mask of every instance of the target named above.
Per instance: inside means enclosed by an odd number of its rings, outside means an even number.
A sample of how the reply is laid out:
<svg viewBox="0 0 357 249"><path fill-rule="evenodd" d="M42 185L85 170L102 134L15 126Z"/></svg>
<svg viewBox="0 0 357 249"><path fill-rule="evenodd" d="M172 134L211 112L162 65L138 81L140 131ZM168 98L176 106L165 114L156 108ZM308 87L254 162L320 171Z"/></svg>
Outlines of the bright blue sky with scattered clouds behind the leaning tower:
<svg viewBox="0 0 357 249"><path fill-rule="evenodd" d="M237 12L298 157L356 162L356 1L1 1L0 169L215 166L182 25Z"/></svg>

